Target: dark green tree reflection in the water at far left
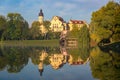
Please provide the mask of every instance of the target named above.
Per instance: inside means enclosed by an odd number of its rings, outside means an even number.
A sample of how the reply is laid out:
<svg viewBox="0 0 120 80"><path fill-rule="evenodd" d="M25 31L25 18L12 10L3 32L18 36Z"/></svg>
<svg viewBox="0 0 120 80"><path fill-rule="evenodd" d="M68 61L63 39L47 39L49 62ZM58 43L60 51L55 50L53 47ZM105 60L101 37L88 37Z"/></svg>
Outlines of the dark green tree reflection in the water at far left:
<svg viewBox="0 0 120 80"><path fill-rule="evenodd" d="M0 49L0 70L7 68L9 73L20 72L28 63L28 54L26 48L2 47Z"/></svg>

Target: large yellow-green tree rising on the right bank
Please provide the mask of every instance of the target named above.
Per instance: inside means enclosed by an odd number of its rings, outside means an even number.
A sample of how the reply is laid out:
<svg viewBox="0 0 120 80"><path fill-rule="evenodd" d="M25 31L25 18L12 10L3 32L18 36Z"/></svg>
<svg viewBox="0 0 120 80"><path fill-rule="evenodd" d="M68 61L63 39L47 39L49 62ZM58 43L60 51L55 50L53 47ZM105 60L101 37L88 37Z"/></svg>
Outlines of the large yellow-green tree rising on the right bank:
<svg viewBox="0 0 120 80"><path fill-rule="evenodd" d="M92 13L90 23L92 40L96 41L96 43L100 43L104 39L108 39L111 42L120 40L114 38L114 35L120 36L119 9L119 3L109 1L108 4Z"/></svg>

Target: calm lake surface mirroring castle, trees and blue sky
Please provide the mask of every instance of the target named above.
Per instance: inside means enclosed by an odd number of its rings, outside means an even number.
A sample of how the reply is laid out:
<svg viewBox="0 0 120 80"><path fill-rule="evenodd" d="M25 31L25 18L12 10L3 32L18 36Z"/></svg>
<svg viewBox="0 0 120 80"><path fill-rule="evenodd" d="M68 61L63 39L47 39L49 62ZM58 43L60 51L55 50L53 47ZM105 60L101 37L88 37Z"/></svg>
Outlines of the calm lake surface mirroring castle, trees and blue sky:
<svg viewBox="0 0 120 80"><path fill-rule="evenodd" d="M120 80L120 52L99 47L1 47L0 80Z"/></svg>

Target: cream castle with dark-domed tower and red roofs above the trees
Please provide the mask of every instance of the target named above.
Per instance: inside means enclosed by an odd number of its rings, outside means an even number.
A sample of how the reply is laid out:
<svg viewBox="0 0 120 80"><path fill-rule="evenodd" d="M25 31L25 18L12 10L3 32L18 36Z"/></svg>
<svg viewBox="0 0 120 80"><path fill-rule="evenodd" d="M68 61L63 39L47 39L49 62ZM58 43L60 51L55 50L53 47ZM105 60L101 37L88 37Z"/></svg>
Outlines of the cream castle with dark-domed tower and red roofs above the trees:
<svg viewBox="0 0 120 80"><path fill-rule="evenodd" d="M38 21L41 24L40 30L43 34L47 33L48 30L45 28L44 22L44 14L42 9L39 12ZM50 21L50 30L52 32L62 32L63 30L72 31L74 25L80 29L84 24L87 24L85 21L82 20L70 20L68 23L64 21L64 19L60 16L53 16L52 20ZM88 24L87 24L88 26Z"/></svg>

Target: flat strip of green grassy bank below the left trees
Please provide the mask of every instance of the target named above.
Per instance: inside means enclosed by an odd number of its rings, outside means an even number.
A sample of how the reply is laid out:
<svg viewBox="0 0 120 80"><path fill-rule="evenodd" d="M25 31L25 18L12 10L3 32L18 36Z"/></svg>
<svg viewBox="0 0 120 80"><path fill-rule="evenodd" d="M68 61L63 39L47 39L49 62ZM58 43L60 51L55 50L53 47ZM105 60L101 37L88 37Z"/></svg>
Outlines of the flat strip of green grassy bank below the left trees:
<svg viewBox="0 0 120 80"><path fill-rule="evenodd" d="M1 46L59 46L59 40L11 40L1 41Z"/></svg>

